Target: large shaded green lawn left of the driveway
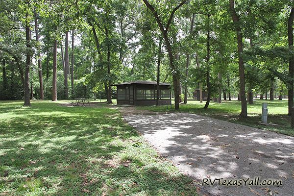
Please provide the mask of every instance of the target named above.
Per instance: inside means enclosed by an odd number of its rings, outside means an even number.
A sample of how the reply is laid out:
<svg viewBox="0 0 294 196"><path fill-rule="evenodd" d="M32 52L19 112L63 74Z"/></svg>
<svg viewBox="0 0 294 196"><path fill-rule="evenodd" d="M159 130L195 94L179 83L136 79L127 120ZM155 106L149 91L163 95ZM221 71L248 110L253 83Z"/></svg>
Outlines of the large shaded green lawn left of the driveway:
<svg viewBox="0 0 294 196"><path fill-rule="evenodd" d="M0 196L196 195L115 107L0 102Z"/></svg>

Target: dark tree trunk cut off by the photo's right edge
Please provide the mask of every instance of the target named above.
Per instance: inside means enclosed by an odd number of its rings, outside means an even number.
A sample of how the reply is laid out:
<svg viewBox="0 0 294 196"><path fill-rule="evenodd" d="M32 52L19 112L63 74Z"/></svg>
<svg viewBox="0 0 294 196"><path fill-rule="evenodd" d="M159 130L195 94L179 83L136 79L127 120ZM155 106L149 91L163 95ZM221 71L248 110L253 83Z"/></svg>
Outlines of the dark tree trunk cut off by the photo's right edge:
<svg viewBox="0 0 294 196"><path fill-rule="evenodd" d="M289 49L293 51L293 20L294 20L294 7L291 9L291 13L288 19L288 45ZM288 115L292 115L293 111L293 98L294 98L294 86L293 86L293 77L294 77L294 55L291 55L289 58L289 84L288 84Z"/></svg>

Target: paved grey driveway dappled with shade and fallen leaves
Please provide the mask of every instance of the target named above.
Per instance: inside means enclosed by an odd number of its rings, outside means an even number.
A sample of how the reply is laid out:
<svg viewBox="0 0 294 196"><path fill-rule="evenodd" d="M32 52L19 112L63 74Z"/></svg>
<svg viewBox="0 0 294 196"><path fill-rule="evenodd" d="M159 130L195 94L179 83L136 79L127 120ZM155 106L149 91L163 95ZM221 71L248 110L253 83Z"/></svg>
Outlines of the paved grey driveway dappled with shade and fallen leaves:
<svg viewBox="0 0 294 196"><path fill-rule="evenodd" d="M282 186L196 185L200 195L294 196L294 137L189 113L124 119L196 183L203 178L282 180Z"/></svg>

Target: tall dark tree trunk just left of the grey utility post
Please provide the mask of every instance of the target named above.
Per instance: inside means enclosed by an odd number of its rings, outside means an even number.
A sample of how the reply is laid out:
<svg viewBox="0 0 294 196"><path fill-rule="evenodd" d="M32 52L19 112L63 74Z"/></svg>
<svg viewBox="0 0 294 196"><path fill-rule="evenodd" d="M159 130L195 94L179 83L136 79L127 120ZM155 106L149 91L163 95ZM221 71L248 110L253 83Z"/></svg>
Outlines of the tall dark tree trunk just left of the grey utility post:
<svg viewBox="0 0 294 196"><path fill-rule="evenodd" d="M245 71L243 60L243 36L240 27L240 19L235 10L234 0L229 0L232 20L236 26L237 45L238 45L238 59L239 59L239 77L240 77L240 98L241 98L241 117L247 117L247 102L245 95Z"/></svg>

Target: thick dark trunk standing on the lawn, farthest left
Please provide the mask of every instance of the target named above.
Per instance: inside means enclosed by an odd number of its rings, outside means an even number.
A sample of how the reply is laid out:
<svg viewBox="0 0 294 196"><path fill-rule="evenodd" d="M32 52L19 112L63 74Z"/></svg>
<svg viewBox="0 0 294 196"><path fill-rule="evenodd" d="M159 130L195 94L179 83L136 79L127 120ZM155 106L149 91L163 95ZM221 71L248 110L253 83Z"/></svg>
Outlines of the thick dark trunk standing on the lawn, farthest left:
<svg viewBox="0 0 294 196"><path fill-rule="evenodd" d="M27 1L28 4L28 1ZM25 14L25 40L26 40L26 63L25 63L25 103L24 106L31 106L29 94L29 69L31 63L30 29L28 13Z"/></svg>

